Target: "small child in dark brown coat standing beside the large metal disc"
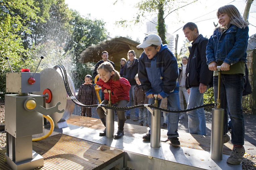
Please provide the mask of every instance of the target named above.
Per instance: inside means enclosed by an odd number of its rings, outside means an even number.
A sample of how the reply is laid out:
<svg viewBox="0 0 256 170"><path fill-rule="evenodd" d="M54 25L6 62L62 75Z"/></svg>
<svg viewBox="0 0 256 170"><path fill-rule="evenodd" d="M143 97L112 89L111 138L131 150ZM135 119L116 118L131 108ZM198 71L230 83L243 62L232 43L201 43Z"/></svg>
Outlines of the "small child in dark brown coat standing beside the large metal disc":
<svg viewBox="0 0 256 170"><path fill-rule="evenodd" d="M84 84L82 84L79 88L77 94L77 100L84 105L94 105L96 104L96 92L93 86L92 76L86 75L84 77ZM81 108L81 116L92 117L92 108L91 107L82 107Z"/></svg>

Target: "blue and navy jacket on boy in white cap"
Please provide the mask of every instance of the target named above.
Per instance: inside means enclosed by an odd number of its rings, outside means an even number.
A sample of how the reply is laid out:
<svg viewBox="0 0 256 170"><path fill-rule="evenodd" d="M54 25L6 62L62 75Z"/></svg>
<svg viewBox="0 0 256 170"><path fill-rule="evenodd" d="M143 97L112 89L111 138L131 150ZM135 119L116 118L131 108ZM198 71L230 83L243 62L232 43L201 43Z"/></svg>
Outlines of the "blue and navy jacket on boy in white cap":
<svg viewBox="0 0 256 170"><path fill-rule="evenodd" d="M157 54L149 59L145 51L139 58L138 77L146 95L160 94L163 98L178 92L178 64L167 45L162 45Z"/></svg>

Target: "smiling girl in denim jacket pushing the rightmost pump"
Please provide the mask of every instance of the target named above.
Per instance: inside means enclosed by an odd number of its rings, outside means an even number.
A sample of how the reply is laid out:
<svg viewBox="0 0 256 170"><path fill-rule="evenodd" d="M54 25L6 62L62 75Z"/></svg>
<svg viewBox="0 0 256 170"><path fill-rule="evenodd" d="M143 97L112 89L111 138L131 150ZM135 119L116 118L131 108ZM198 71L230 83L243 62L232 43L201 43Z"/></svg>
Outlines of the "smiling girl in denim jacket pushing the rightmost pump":
<svg viewBox="0 0 256 170"><path fill-rule="evenodd" d="M214 71L214 98L218 93L218 71L221 66L221 108L225 109L224 140L230 140L228 132L228 113L232 124L231 142L233 150L228 158L229 164L237 165L245 153L244 116L242 110L242 95L244 90L244 75L246 49L248 43L248 24L242 18L234 5L225 5L217 11L220 26L214 30L206 46L206 58L209 70Z"/></svg>

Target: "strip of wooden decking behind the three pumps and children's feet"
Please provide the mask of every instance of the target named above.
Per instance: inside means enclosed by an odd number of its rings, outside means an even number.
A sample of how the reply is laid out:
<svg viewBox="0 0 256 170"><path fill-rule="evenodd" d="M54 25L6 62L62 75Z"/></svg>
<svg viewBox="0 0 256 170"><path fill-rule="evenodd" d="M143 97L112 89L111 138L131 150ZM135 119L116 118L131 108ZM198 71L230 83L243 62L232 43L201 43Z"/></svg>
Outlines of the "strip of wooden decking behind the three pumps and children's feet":
<svg viewBox="0 0 256 170"><path fill-rule="evenodd" d="M76 126L96 129L96 130L105 129L100 119L91 118L91 117L72 115L67 120L67 123L76 125ZM149 128L145 126L138 126L138 125L125 123L124 135L142 139L142 137L148 132L148 129ZM115 122L115 131L117 131L117 122ZM164 141L166 139L167 139L167 130L161 129L161 140ZM180 141L180 146L182 147L210 152L210 141L211 141L210 136L202 136L202 135L179 132L179 141ZM166 143L170 143L170 142L167 141ZM223 154L230 155L232 148L233 148L233 144L231 142L225 143L223 146Z"/></svg>

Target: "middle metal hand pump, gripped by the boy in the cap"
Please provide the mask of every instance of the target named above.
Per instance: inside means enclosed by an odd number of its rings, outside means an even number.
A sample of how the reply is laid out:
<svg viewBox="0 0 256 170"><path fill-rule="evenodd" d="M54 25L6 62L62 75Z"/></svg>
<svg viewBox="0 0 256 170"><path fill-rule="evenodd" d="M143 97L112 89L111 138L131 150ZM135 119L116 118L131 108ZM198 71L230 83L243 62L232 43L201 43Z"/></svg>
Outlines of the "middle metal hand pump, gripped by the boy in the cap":
<svg viewBox="0 0 256 170"><path fill-rule="evenodd" d="M158 106L157 95L155 97L155 106ZM152 148L160 147L160 134L161 134L161 112L158 109L153 110L153 114L151 116L151 136L150 136L150 146Z"/></svg>

